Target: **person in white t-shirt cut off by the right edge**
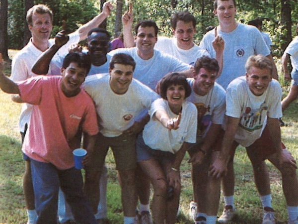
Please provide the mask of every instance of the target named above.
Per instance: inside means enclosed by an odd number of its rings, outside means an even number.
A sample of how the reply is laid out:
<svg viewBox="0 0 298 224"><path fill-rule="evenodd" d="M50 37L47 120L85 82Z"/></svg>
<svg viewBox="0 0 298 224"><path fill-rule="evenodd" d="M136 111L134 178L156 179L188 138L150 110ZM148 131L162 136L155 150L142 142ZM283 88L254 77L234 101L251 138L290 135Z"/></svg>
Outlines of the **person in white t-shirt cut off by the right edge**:
<svg viewBox="0 0 298 224"><path fill-rule="evenodd" d="M284 71L285 80L292 81L291 89L288 96L282 101L282 110L286 108L297 99L298 96L298 23L296 25L297 36L286 48L285 53L282 56L282 66ZM288 70L288 62L291 58L292 72L291 75Z"/></svg>

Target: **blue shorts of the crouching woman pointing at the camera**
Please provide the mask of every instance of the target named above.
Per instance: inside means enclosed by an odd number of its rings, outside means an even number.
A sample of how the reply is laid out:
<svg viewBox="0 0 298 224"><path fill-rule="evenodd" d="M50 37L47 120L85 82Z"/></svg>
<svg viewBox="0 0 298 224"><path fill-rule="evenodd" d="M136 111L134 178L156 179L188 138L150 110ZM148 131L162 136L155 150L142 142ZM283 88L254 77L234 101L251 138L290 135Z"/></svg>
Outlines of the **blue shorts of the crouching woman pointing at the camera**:
<svg viewBox="0 0 298 224"><path fill-rule="evenodd" d="M168 160L173 162L175 160L175 154L171 152L164 152L157 149L151 149L145 144L143 139L143 132L138 135L136 141L136 151L137 151L137 162L141 162L148 159L155 159L157 161Z"/></svg>

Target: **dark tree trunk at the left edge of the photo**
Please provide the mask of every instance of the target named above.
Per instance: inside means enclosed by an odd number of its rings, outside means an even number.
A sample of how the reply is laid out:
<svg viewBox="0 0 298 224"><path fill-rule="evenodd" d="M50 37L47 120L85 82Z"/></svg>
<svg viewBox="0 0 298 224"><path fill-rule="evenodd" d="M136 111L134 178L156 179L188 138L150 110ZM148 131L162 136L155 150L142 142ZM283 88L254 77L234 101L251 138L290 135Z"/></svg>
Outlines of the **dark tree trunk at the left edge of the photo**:
<svg viewBox="0 0 298 224"><path fill-rule="evenodd" d="M5 61L9 61L8 57L8 37L7 37L7 0L0 1L0 53Z"/></svg>

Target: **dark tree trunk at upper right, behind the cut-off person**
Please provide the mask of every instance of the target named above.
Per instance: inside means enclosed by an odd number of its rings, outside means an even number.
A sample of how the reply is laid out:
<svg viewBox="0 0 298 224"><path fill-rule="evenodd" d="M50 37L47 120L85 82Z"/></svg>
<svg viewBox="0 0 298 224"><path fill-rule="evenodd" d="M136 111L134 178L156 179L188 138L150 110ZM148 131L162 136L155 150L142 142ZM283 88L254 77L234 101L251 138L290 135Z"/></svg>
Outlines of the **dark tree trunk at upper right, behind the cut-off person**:
<svg viewBox="0 0 298 224"><path fill-rule="evenodd" d="M292 41L292 18L289 0L281 0L281 23L285 26L287 31L281 44L282 50L284 51Z"/></svg>

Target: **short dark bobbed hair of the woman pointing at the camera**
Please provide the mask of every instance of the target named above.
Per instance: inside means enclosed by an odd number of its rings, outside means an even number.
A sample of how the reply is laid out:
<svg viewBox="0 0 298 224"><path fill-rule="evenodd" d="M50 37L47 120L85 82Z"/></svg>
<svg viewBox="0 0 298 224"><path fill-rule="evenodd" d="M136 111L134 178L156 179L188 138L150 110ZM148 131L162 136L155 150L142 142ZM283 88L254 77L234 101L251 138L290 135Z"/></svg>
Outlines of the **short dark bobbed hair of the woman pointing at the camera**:
<svg viewBox="0 0 298 224"><path fill-rule="evenodd" d="M191 94L191 87L186 81L186 76L177 72L170 72L166 74L159 81L159 95L166 100L166 91L171 85L181 85L185 89L185 98L188 98Z"/></svg>

